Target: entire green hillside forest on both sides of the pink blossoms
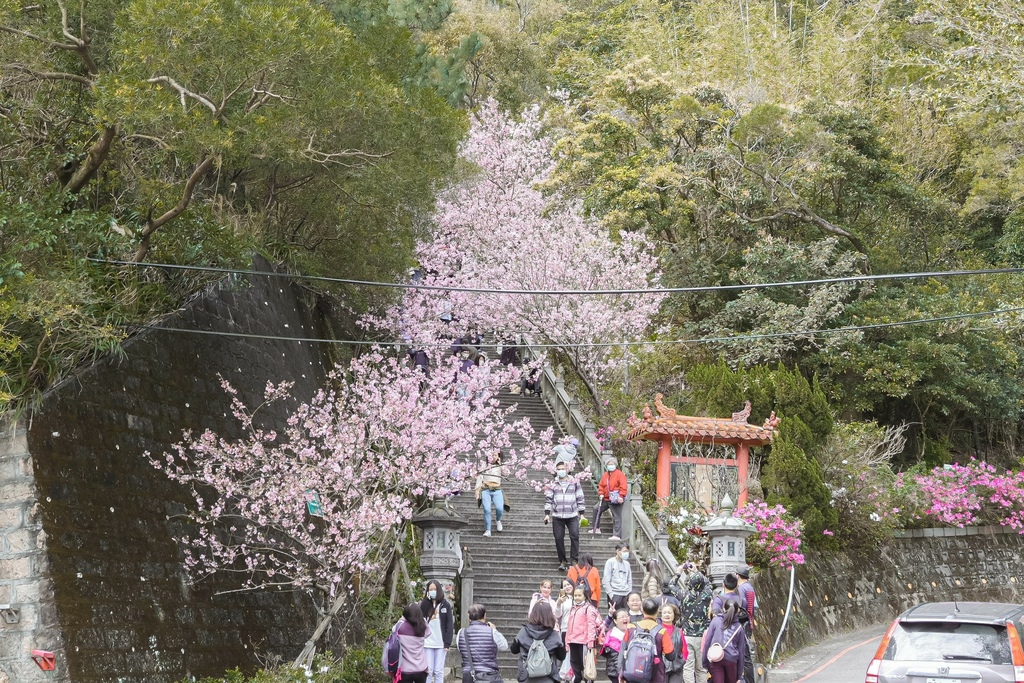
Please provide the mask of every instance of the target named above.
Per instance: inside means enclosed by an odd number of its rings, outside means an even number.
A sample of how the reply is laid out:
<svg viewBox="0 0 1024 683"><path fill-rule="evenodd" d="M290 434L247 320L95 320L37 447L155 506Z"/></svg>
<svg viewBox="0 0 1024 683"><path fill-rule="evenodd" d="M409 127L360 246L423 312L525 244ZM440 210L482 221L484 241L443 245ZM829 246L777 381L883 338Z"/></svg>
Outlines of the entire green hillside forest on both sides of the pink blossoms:
<svg viewBox="0 0 1024 683"><path fill-rule="evenodd" d="M541 106L546 189L643 234L664 286L1021 266L1022 76L1011 0L0 0L0 399L202 284L90 256L399 276L487 98ZM1015 464L1022 283L674 295L652 338L759 338L638 349L607 419L738 410L688 372L777 368L910 425L897 465ZM950 319L877 327L919 318Z"/></svg>

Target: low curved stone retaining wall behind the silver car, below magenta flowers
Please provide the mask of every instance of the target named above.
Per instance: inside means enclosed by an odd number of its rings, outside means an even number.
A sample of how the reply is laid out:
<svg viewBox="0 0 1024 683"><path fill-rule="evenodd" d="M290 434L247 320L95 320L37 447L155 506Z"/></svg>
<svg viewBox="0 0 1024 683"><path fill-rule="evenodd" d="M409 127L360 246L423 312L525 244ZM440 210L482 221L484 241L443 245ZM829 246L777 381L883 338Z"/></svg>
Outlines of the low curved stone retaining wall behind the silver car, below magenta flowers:
<svg viewBox="0 0 1024 683"><path fill-rule="evenodd" d="M796 570L784 652L891 622L922 602L1024 602L1024 537L1001 526L915 529L871 551L808 554ZM756 574L763 660L782 625L788 570Z"/></svg>

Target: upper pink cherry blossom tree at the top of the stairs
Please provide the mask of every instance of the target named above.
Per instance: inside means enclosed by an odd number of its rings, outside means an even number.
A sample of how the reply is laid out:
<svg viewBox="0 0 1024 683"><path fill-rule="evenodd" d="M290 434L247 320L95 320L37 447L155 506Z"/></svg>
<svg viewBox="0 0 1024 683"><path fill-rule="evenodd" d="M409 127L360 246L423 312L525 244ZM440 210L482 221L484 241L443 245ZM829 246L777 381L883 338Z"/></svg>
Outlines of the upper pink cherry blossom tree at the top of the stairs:
<svg viewBox="0 0 1024 683"><path fill-rule="evenodd" d="M613 239L567 198L542 191L554 157L541 128L536 106L519 121L494 100L476 113L461 153L475 172L439 199L433 239L418 248L423 285L551 292L657 284L657 259L646 238L624 232ZM621 342L641 338L662 299L413 290L390 319L414 343L441 337L439 318L451 313L453 325L549 345L600 407L599 385L625 355Z"/></svg>

